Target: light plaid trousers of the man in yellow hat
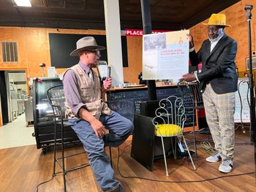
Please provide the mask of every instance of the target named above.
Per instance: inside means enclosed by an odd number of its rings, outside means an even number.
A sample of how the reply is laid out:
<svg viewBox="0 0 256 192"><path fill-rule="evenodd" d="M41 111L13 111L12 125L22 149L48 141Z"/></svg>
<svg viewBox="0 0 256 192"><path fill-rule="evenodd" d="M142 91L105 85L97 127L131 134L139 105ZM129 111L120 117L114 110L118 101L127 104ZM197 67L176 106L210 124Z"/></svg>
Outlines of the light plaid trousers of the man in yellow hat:
<svg viewBox="0 0 256 192"><path fill-rule="evenodd" d="M206 120L214 140L215 150L219 151L222 160L234 158L235 145L235 92L217 94L206 85L203 93L203 104L206 110Z"/></svg>

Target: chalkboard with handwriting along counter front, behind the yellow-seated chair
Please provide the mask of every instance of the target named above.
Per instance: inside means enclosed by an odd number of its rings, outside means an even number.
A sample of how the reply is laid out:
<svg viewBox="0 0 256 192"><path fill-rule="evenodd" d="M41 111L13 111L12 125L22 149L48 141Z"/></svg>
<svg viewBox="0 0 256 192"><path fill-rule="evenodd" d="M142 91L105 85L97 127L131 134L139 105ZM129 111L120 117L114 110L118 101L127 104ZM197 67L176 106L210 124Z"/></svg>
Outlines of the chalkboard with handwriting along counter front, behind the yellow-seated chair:
<svg viewBox="0 0 256 192"><path fill-rule="evenodd" d="M157 100L164 99L172 95L181 97L181 93L176 86L157 88ZM146 88L141 88L108 92L107 99L111 110L116 111L122 116L133 121L134 115L140 114L140 102L148 101L148 90ZM187 115L184 127L193 126L193 103L188 102L185 99L184 106L186 107Z"/></svg>

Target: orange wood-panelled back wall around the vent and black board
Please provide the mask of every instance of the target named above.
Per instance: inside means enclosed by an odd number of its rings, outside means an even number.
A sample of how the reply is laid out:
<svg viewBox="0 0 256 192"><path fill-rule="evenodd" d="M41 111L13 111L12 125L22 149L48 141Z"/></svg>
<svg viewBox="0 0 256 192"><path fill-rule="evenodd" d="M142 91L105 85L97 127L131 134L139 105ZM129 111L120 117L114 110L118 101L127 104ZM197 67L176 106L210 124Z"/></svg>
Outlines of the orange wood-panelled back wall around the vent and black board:
<svg viewBox="0 0 256 192"><path fill-rule="evenodd" d="M41 77L40 63L50 65L50 44L49 33L60 34L105 34L105 31L99 30L75 30L55 28L21 28L21 27L0 27L0 41L18 42L18 63L6 64L0 63L0 70L17 69L26 67L29 77ZM142 66L142 38L127 37L128 62L129 67L124 68L124 81L138 82L138 74ZM0 61L1 50L0 50ZM57 69L57 73L63 73L66 69ZM47 69L45 68L45 74Z"/></svg>

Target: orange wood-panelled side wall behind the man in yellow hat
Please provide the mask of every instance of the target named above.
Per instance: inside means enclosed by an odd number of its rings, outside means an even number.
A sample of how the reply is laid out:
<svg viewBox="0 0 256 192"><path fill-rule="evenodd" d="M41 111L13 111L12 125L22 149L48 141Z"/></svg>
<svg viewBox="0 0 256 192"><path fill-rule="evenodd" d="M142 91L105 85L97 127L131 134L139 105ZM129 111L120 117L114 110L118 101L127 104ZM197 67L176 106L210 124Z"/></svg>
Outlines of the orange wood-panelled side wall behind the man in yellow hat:
<svg viewBox="0 0 256 192"><path fill-rule="evenodd" d="M231 7L223 10L223 13L227 17L227 24L230 27L225 28L225 33L236 39L238 42L238 53L236 55L236 65L238 67L239 77L243 77L246 71L246 58L248 58L248 27L246 21L246 12L244 6L246 4L253 4L255 6L255 0L242 0L234 4ZM204 20L202 23L208 23L208 19ZM198 23L196 26L190 28L190 34L195 40L195 49L199 50L203 41L208 38L207 36L207 26L203 26L202 23ZM252 9L252 50L256 50L256 7ZM255 55L256 56L256 55Z"/></svg>

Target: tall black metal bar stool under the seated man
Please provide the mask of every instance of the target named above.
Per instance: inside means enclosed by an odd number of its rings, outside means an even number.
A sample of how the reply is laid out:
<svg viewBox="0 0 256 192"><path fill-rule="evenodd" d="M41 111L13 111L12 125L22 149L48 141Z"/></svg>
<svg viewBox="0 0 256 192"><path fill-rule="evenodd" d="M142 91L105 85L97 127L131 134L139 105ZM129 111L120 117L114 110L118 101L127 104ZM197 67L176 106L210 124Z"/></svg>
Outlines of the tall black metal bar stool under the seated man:
<svg viewBox="0 0 256 192"><path fill-rule="evenodd" d="M63 180L64 180L64 191L67 191L66 188L66 174L67 172L71 172L76 169L83 168L85 166L89 166L89 164L81 164L80 166L75 166L70 169L66 169L64 159L72 157L74 155L80 155L82 153L86 153L86 151L81 152L81 153L75 153L72 155L64 155L64 129L69 127L67 123L67 118L65 116L65 96L64 96L64 89L63 85L57 85L52 88L49 88L47 91L47 97L48 101L50 102L50 105L53 109L53 117L54 117L54 161L53 161L53 177L56 176L56 162L59 164L59 166L62 169L62 174L63 174ZM56 132L57 129L61 127L61 139L56 138ZM61 157L57 158L56 157L56 147L57 145L61 144ZM62 164L61 164L61 160Z"/></svg>

